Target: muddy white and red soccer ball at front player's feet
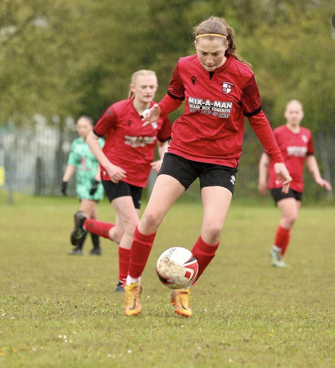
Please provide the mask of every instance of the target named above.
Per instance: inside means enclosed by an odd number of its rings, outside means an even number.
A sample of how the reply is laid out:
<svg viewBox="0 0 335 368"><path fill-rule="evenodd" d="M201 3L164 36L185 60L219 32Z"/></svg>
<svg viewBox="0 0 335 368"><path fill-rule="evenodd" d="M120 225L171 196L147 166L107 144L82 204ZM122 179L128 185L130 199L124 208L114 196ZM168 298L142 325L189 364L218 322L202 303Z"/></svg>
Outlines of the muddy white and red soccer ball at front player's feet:
<svg viewBox="0 0 335 368"><path fill-rule="evenodd" d="M187 249L173 247L161 254L156 272L159 280L170 289L190 286L198 276L197 258Z"/></svg>

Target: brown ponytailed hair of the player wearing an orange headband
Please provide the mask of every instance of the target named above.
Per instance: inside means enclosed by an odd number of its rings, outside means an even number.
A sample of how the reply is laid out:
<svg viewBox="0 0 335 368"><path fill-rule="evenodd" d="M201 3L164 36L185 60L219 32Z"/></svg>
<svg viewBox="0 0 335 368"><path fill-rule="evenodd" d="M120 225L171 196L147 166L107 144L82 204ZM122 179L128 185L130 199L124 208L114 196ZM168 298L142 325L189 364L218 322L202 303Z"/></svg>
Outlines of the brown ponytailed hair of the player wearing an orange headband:
<svg viewBox="0 0 335 368"><path fill-rule="evenodd" d="M251 64L247 61L243 60L241 56L236 52L235 45L235 32L234 29L227 23L224 18L219 18L212 16L205 21L202 21L197 26L193 28L193 36L197 37L199 35L204 35L207 33L213 33L216 35L225 36L226 39L222 39L224 45L228 42L228 48L226 50L226 54L233 57L234 59L241 61L241 63L246 64L249 68L251 68ZM208 39L214 39L216 36L204 36ZM198 42L196 40L195 42Z"/></svg>

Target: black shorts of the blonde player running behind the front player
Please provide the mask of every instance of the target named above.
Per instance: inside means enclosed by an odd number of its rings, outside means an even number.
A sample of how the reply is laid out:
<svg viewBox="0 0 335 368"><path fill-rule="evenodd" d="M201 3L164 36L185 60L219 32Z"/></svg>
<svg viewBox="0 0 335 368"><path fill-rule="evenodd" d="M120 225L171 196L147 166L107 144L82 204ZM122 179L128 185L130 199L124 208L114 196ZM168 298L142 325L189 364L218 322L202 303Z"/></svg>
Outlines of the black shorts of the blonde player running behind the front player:
<svg viewBox="0 0 335 368"><path fill-rule="evenodd" d="M109 202L112 202L115 198L130 195L133 198L135 208L140 209L143 188L125 183L124 181L119 181L119 183L116 184L111 180L101 180L101 183Z"/></svg>

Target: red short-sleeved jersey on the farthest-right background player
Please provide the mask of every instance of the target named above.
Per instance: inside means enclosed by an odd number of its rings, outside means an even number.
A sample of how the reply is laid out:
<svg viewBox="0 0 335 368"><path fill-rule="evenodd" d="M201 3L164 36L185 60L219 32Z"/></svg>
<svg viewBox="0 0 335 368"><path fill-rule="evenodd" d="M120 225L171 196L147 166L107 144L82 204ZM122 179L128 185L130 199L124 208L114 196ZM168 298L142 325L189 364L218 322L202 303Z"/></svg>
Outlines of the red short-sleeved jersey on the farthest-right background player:
<svg viewBox="0 0 335 368"><path fill-rule="evenodd" d="M300 127L299 133L293 133L286 125L273 130L278 146L284 157L285 165L292 176L290 188L297 192L303 191L303 166L307 155L313 155L314 145L311 131ZM269 165L269 189L280 188L276 184L277 175L274 172L273 162Z"/></svg>

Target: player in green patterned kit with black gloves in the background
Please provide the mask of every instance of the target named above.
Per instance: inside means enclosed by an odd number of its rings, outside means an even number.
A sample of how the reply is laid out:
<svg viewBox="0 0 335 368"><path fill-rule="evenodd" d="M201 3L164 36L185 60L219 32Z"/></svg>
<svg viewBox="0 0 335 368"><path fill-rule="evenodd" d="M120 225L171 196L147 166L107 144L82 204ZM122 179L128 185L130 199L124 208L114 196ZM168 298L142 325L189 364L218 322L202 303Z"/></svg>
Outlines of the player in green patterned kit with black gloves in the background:
<svg viewBox="0 0 335 368"><path fill-rule="evenodd" d="M66 195L68 181L76 171L76 192L80 200L79 210L89 219L96 219L97 201L104 198L104 188L100 183L99 163L86 142L87 135L93 128L92 118L89 116L80 117L77 121L76 128L79 137L74 139L71 145L68 165L66 166L63 176L61 192ZM98 144L103 147L104 143L104 139L100 138ZM86 234L82 235L82 237L75 241L73 245L76 245L76 248L69 252L69 254L82 254ZM91 234L91 237L93 249L90 251L90 254L101 254L99 237L96 234Z"/></svg>

